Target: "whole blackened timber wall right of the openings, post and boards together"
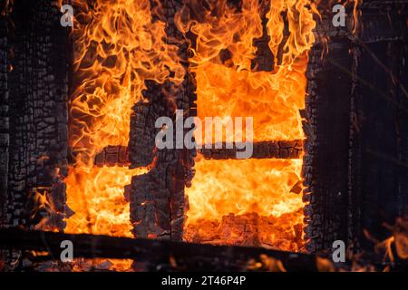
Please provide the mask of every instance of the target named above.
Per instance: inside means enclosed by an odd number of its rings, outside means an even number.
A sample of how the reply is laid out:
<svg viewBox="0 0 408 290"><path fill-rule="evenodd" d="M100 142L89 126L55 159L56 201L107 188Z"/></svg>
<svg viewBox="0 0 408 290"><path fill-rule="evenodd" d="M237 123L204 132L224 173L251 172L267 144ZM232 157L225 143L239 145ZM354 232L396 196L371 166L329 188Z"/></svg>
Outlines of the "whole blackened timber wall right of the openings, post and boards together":
<svg viewBox="0 0 408 290"><path fill-rule="evenodd" d="M306 249L341 239L358 252L370 248L363 230L384 239L383 223L408 210L408 2L364 1L355 33L353 17L335 28L326 5L307 72Z"/></svg>

